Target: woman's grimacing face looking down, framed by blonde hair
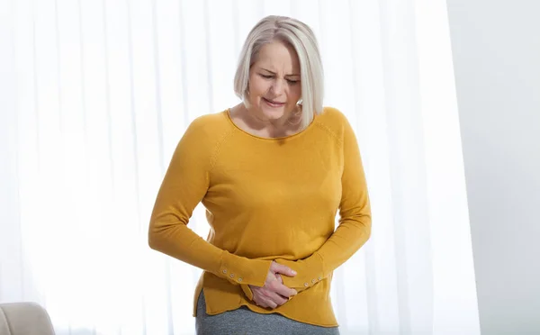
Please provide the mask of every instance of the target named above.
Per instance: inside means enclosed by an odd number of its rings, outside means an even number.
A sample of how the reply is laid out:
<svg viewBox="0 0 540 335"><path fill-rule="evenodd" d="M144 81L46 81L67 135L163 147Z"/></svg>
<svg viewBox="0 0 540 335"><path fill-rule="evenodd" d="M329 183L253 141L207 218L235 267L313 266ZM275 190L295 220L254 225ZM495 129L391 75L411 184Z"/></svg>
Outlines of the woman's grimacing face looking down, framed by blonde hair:
<svg viewBox="0 0 540 335"><path fill-rule="evenodd" d="M249 69L249 104L264 121L284 117L296 110L302 95L300 62L293 47L282 41L264 45Z"/></svg>

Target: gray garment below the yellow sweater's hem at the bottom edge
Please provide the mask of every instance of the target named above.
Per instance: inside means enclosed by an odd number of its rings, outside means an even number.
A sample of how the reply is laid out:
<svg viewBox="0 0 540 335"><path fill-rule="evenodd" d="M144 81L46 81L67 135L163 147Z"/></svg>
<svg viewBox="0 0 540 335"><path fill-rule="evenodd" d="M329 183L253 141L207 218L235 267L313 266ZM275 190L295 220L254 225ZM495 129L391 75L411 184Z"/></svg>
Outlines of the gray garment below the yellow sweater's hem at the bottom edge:
<svg viewBox="0 0 540 335"><path fill-rule="evenodd" d="M246 306L217 315L206 313L206 302L201 292L195 318L197 335L339 335L338 327L320 327L294 321L281 314L252 312Z"/></svg>

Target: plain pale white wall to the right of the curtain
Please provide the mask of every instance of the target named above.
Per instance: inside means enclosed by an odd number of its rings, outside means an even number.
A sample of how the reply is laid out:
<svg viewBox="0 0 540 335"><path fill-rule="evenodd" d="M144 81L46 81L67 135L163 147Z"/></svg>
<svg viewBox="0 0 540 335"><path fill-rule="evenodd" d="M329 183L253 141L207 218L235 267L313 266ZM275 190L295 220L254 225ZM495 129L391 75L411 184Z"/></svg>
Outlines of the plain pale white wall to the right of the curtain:
<svg viewBox="0 0 540 335"><path fill-rule="evenodd" d="M540 1L447 5L482 334L540 334Z"/></svg>

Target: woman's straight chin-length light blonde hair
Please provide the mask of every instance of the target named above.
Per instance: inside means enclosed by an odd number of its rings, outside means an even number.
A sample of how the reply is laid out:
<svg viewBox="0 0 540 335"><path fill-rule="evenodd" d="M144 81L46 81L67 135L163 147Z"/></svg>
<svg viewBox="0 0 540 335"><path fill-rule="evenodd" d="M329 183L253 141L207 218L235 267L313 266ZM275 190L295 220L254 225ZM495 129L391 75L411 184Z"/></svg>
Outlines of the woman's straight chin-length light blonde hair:
<svg viewBox="0 0 540 335"><path fill-rule="evenodd" d="M296 19L286 16L266 16L247 35L240 51L238 68L234 76L234 92L247 105L249 68L257 59L261 48L272 41L288 43L296 51L300 61L302 84L302 129L313 119L313 114L322 113L324 75L319 46L311 28Z"/></svg>

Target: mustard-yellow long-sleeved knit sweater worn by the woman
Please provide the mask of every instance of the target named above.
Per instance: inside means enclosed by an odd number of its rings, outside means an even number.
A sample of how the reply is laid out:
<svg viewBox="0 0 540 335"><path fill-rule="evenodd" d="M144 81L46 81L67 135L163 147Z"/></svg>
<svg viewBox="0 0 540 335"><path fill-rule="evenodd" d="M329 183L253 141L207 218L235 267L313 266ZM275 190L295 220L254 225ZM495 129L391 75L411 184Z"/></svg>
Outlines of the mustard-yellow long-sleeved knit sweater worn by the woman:
<svg viewBox="0 0 540 335"><path fill-rule="evenodd" d="M211 225L207 240L187 227L199 202ZM245 305L330 327L338 325L332 272L370 232L364 169L342 113L327 107L305 130L267 139L238 128L226 110L185 131L157 195L148 243L204 270L193 307L203 289L208 314ZM282 277L299 292L275 310L251 301L247 286L264 285L272 260L297 272Z"/></svg>

